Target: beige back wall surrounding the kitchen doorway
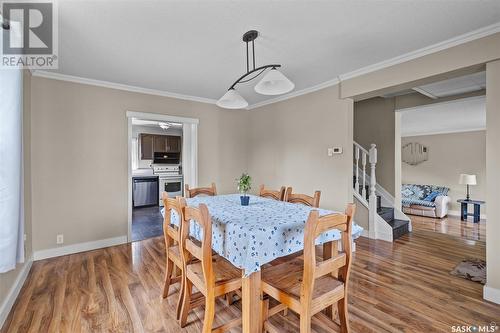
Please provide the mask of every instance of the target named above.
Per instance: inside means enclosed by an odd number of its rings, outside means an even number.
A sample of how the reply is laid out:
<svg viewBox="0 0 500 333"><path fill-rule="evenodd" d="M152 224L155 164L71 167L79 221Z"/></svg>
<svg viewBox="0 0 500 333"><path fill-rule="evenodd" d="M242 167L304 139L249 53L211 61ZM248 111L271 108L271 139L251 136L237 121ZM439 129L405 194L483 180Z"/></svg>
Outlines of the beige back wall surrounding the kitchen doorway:
<svg viewBox="0 0 500 333"><path fill-rule="evenodd" d="M246 170L244 111L33 77L34 250L127 234L126 111L199 118L199 184L234 192Z"/></svg>

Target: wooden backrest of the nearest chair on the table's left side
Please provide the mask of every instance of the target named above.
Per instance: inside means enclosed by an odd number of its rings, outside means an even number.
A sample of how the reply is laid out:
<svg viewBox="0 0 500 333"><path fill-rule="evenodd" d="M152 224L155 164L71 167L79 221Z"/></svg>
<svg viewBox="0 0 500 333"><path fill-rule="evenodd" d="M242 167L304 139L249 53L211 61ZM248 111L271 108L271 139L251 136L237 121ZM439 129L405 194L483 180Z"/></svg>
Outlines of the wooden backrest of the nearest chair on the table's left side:
<svg viewBox="0 0 500 333"><path fill-rule="evenodd" d="M180 237L183 262L188 263L191 257L199 259L203 267L205 286L210 289L215 286L215 276L212 266L212 219L208 208L204 204L200 204L198 208L185 206L183 215ZM201 242L189 236L192 223L201 227Z"/></svg>

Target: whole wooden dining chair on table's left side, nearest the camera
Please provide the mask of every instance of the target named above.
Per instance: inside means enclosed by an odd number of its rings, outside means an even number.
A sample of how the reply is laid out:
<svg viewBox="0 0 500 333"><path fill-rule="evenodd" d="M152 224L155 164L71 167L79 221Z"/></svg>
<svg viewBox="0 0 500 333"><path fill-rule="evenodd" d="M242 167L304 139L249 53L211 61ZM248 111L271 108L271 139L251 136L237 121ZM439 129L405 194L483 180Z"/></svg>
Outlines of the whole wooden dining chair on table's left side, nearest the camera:
<svg viewBox="0 0 500 333"><path fill-rule="evenodd" d="M181 198L181 200L184 200ZM212 254L212 221L208 208L185 206L181 227L181 252L184 265L184 293L180 314L180 326L185 327L191 309L205 305L203 332L223 332L241 325L241 316L212 329L215 317L215 299L241 289L240 269L221 256ZM201 242L189 237L191 224L201 228ZM199 259L193 262L191 259ZM192 293L193 286L198 292Z"/></svg>

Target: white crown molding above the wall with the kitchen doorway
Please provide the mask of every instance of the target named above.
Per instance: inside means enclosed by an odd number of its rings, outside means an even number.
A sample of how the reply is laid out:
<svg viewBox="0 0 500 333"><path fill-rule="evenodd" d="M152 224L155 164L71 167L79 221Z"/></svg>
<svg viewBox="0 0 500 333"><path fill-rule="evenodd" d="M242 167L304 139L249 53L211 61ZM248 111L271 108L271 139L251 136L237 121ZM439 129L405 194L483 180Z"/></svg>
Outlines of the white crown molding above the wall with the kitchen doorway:
<svg viewBox="0 0 500 333"><path fill-rule="evenodd" d="M88 78L73 76L73 75L60 74L60 73L55 73L55 72L35 70L32 72L32 75L36 76L36 77L42 77L45 79L68 81L68 82L73 82L73 83L80 83L80 84L86 84L86 85L104 87L104 88L110 88L110 89L117 89L117 90L124 90L124 91L130 91L130 92L135 92L135 93L147 94L147 95L171 97L171 98L183 99L183 100L192 101L192 102L200 102L200 103L207 103L207 104L215 104L215 102L216 102L216 100L210 99L210 98L177 94L177 93L173 93L173 92L169 92L169 91L142 88L142 87L137 87L137 86L130 86L130 85L126 85L126 84L109 82L109 81L94 80L94 79L88 79Z"/></svg>

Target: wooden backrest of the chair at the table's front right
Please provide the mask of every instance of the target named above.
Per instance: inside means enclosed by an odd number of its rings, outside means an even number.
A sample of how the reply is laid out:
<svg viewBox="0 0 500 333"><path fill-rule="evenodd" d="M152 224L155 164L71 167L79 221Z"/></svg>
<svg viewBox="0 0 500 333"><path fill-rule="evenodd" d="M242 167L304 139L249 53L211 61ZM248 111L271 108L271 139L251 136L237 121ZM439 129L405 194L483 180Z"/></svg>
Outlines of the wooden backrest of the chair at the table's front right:
<svg viewBox="0 0 500 333"><path fill-rule="evenodd" d="M337 279L344 283L347 289L349 272L351 267L351 234L352 217L356 206L349 204L345 214L329 214L319 217L319 212L313 210L309 214L304 230L304 273L301 285L301 304L311 304L314 290L314 281L326 274L337 276ZM341 244L342 253L327 256L323 261L316 262L316 238L324 232L332 229L340 230L342 233ZM332 242L332 246L337 247L337 241ZM347 297L347 295L346 295Z"/></svg>

